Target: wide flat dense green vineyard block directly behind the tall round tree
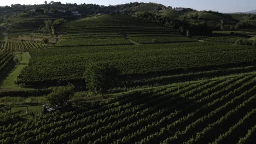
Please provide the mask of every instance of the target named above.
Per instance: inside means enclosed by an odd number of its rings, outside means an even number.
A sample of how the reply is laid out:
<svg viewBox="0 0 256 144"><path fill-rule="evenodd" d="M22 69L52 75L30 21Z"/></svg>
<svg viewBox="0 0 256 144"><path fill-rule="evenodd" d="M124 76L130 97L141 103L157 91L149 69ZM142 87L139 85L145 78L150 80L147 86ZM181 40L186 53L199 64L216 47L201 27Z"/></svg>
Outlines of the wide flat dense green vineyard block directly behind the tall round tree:
<svg viewBox="0 0 256 144"><path fill-rule="evenodd" d="M224 48L225 47L225 48ZM256 49L217 43L176 43L31 50L29 67L20 75L27 85L82 79L86 62L108 62L123 75L138 75L211 65L253 64ZM68 55L68 57L67 57Z"/></svg>

